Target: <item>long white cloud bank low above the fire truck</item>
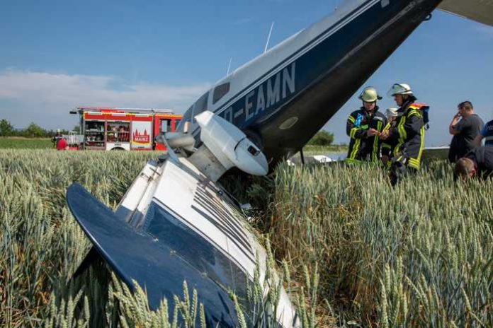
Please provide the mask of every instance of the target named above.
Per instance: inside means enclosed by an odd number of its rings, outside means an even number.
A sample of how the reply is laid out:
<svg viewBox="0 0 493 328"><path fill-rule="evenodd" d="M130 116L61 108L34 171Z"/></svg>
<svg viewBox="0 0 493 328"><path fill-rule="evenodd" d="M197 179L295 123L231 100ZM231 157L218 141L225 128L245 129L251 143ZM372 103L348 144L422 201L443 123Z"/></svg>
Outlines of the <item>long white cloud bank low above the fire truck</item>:
<svg viewBox="0 0 493 328"><path fill-rule="evenodd" d="M73 127L77 119L69 110L80 105L166 108L181 113L208 88L210 83L169 86L126 83L115 76L8 69L0 73L0 118L16 127L35 122L56 129Z"/></svg>

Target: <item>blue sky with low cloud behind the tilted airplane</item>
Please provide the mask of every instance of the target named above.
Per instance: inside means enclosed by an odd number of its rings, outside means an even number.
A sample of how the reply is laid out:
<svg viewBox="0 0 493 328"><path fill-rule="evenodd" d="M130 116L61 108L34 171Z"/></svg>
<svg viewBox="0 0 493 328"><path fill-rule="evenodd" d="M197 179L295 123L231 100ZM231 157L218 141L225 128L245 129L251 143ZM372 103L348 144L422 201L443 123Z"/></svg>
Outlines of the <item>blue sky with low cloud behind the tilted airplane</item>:
<svg viewBox="0 0 493 328"><path fill-rule="evenodd" d="M270 46L334 11L339 0L4 1L0 118L71 128L77 105L183 112L204 90ZM428 146L447 144L462 100L493 119L493 28L436 12L366 83L385 95L409 83L431 105ZM325 126L347 141L356 96ZM380 106L392 106L384 98Z"/></svg>

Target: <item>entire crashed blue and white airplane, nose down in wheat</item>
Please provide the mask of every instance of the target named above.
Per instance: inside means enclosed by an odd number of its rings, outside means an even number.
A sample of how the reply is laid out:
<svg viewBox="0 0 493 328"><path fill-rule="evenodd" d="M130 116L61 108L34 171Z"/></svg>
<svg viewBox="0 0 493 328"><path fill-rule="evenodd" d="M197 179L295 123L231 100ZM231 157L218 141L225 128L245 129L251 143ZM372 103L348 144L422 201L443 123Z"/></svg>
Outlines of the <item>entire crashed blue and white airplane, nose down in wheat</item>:
<svg viewBox="0 0 493 328"><path fill-rule="evenodd" d="M78 271L102 257L130 288L147 289L152 308L186 280L211 327L239 326L227 292L244 300L257 259L265 276L266 252L217 180L232 167L266 175L299 151L437 6L493 25L492 0L344 1L201 96L178 132L158 136L168 153L147 163L115 212L69 187L94 245ZM285 291L275 320L300 325Z"/></svg>

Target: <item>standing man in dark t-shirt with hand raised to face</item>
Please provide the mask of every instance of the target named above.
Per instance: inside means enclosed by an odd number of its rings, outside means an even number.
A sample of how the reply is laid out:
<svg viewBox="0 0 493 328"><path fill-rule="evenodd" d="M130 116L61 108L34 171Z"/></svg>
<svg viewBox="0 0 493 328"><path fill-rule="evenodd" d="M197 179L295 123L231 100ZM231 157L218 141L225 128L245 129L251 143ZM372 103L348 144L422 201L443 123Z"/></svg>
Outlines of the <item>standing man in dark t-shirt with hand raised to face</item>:
<svg viewBox="0 0 493 328"><path fill-rule="evenodd" d="M484 125L482 119L474 113L470 101L460 102L458 112L448 127L448 131L453 135L448 151L450 163L455 163L467 152L479 146L475 143L475 139Z"/></svg>

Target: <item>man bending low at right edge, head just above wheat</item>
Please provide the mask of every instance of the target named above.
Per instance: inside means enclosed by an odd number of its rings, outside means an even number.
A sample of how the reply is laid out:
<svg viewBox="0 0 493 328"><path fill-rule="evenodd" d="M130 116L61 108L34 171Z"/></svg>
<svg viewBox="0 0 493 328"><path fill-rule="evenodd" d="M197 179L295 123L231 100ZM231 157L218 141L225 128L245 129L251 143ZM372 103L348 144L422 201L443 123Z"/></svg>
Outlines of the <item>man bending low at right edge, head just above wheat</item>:
<svg viewBox="0 0 493 328"><path fill-rule="evenodd" d="M455 163L454 180L477 176L486 179L493 173L493 147L477 147Z"/></svg>

